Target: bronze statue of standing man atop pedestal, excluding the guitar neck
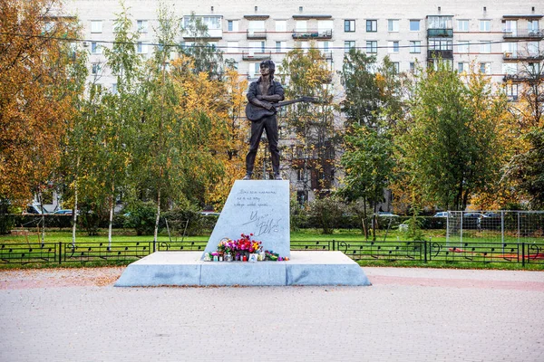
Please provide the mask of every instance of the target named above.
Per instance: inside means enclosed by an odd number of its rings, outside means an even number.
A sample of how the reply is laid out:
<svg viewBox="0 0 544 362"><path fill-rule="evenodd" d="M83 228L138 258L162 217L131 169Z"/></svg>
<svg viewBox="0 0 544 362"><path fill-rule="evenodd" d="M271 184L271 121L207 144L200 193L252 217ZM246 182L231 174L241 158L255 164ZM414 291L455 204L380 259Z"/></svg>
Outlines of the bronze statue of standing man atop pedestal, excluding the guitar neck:
<svg viewBox="0 0 544 362"><path fill-rule="evenodd" d="M246 156L246 176L244 180L250 180L253 175L253 166L257 156L258 144L263 135L263 130L267 131L268 148L270 149L270 159L272 160L272 170L274 178L281 180L279 175L279 150L277 149L277 119L276 110L272 103L285 99L284 89L278 81L274 81L274 72L276 64L267 60L260 63L260 77L257 81L252 81L248 89L248 101L250 108L257 111L262 110L262 117L251 121L251 138L249 139L249 152ZM248 115L248 110L246 111ZM255 119L256 117L251 117ZM249 116L248 116L249 119Z"/></svg>

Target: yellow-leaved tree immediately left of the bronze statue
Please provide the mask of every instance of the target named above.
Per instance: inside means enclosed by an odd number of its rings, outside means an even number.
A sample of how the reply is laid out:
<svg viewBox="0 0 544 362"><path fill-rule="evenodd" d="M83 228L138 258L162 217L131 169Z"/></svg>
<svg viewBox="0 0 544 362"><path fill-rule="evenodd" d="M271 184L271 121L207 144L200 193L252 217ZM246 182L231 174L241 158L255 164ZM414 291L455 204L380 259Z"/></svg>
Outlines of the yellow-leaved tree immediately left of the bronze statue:
<svg viewBox="0 0 544 362"><path fill-rule="evenodd" d="M228 149L228 104L221 81L195 72L194 60L181 54L171 64L179 104L182 196L207 205L213 185L224 174Z"/></svg>

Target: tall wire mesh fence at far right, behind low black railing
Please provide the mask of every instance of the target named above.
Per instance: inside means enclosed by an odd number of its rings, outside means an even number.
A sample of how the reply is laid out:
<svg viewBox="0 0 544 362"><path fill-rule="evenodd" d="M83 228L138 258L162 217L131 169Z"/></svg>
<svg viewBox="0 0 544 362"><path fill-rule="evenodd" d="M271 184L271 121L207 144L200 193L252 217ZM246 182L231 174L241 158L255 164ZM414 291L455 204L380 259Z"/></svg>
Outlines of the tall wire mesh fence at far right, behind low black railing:
<svg viewBox="0 0 544 362"><path fill-rule="evenodd" d="M462 248L465 242L543 243L542 211L450 211L447 216L446 244ZM505 247L505 250L507 247Z"/></svg>

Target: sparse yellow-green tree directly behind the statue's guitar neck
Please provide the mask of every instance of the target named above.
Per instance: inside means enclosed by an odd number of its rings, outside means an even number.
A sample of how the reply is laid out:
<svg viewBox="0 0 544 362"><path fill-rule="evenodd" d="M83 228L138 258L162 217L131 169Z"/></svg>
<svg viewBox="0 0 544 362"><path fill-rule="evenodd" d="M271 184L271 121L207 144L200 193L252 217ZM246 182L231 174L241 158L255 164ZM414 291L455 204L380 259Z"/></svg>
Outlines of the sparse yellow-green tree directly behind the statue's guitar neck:
<svg viewBox="0 0 544 362"><path fill-rule="evenodd" d="M277 72L281 74L287 99L314 96L319 100L289 107L278 120L287 126L282 132L290 140L284 149L291 150L284 150L284 155L291 158L291 169L302 174L303 191L328 191L335 181L335 152L340 139L332 103L333 72L314 47L307 52L302 49L287 52Z"/></svg>

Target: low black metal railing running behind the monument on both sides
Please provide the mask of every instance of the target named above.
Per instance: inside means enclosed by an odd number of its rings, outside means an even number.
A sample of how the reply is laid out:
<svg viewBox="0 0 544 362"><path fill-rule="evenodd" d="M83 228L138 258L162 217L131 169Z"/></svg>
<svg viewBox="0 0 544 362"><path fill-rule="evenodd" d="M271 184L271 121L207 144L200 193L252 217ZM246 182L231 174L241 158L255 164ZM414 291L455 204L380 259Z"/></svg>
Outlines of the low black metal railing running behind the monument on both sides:
<svg viewBox="0 0 544 362"><path fill-rule="evenodd" d="M160 242L160 252L204 252L207 242ZM153 242L4 243L0 264L63 262L134 262L153 252ZM291 242L292 251L340 251L355 261L506 262L544 265L544 241L535 243L461 243L433 241L305 241Z"/></svg>

